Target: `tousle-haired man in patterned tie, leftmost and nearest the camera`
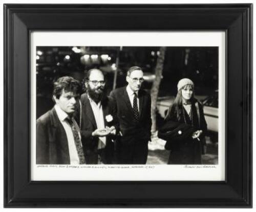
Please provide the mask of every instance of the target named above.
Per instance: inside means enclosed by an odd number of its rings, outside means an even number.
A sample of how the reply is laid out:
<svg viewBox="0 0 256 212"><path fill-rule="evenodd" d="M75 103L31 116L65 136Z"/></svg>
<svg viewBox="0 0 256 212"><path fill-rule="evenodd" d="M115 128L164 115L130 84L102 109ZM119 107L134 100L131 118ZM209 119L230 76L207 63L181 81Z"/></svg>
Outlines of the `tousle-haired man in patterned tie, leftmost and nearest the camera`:
<svg viewBox="0 0 256 212"><path fill-rule="evenodd" d="M79 82L63 76L54 83L54 107L36 120L36 164L84 164L79 127L73 117Z"/></svg>

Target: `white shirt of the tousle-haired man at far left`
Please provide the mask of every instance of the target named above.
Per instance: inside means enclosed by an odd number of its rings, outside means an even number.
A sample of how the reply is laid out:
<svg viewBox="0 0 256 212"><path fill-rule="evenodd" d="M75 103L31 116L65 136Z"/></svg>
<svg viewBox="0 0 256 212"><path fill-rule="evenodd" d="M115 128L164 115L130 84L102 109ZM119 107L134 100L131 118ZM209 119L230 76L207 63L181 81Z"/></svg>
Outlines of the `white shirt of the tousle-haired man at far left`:
<svg viewBox="0 0 256 212"><path fill-rule="evenodd" d="M72 128L71 128L70 124L68 123L68 121L66 120L66 118L69 117L69 115L67 113L65 113L64 111L62 111L57 104L55 104L54 108L56 110L56 113L60 120L60 123L64 127L66 135L67 135L70 164L79 164L79 156L78 156L78 153L76 150L76 144L75 144ZM81 135L80 135L79 127L78 127L76 121L74 120L74 118L72 118L71 120L74 123L76 130L78 131L78 135L79 135L80 142L81 142Z"/></svg>

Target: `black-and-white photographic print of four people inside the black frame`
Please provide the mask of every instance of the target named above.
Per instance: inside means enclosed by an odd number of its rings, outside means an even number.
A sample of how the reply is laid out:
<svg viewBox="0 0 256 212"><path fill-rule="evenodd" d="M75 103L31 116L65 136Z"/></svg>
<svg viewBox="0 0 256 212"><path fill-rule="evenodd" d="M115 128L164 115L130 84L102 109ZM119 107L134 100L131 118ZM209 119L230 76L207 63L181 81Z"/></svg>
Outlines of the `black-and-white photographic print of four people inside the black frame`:
<svg viewBox="0 0 256 212"><path fill-rule="evenodd" d="M33 46L35 167L213 171L223 147L220 46L122 36L124 45Z"/></svg>

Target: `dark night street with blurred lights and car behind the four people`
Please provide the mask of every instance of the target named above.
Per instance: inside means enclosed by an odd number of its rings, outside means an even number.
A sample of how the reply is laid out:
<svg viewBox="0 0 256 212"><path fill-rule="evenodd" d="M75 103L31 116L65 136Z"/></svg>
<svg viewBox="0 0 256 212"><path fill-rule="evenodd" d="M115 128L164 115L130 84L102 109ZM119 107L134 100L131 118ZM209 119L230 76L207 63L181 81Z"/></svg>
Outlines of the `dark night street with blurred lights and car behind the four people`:
<svg viewBox="0 0 256 212"><path fill-rule="evenodd" d="M126 86L127 69L140 66L144 72L143 89L151 92L159 49L156 46L37 46L36 118L53 107L52 89L57 78L72 76L82 85L84 74L91 68L104 73L109 94L113 88ZM194 82L195 95L205 101L204 112L209 113L207 124L214 127L207 132L203 164L218 164L218 60L218 47L166 47L157 97L156 130L162 126L177 94L178 81L186 77ZM153 133L147 164L167 164L169 151L164 149L164 144L165 141L157 138L157 132Z"/></svg>

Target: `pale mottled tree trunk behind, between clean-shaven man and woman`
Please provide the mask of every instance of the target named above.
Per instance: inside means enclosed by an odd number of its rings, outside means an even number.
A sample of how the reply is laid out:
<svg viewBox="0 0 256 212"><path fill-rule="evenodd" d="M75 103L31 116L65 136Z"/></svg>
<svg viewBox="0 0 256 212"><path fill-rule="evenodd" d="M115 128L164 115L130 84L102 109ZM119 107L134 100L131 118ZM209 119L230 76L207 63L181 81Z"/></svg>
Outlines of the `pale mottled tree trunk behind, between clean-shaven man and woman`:
<svg viewBox="0 0 256 212"><path fill-rule="evenodd" d="M157 65L155 69L156 78L151 88L151 117L152 117L151 131L152 133L155 133L155 131L157 130L157 122L156 122L157 121L156 120L157 97L158 97L159 86L162 78L165 50L166 50L165 46L160 47L160 50L159 50L160 54L158 55Z"/></svg>

